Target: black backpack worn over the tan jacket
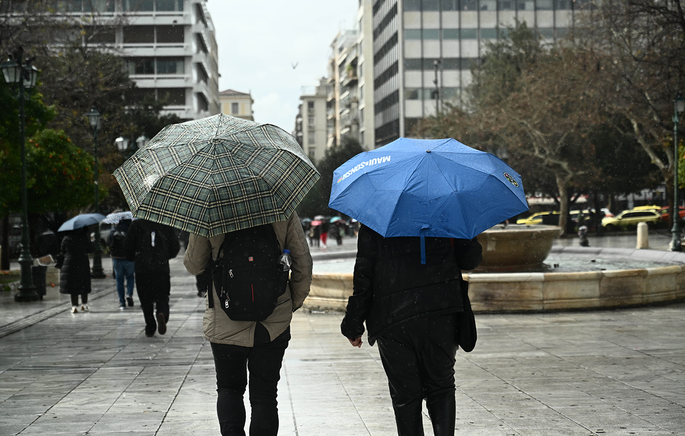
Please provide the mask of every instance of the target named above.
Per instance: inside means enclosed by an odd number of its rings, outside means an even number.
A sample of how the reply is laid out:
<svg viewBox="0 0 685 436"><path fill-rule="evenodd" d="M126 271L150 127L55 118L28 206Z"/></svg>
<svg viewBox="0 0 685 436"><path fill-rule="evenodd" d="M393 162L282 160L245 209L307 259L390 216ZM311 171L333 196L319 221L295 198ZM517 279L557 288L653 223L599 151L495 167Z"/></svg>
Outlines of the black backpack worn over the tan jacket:
<svg viewBox="0 0 685 436"><path fill-rule="evenodd" d="M223 253L223 257L221 256ZM234 321L264 321L286 292L288 271L278 268L281 250L266 224L226 233L212 271L219 305ZM209 307L214 307L208 292Z"/></svg>

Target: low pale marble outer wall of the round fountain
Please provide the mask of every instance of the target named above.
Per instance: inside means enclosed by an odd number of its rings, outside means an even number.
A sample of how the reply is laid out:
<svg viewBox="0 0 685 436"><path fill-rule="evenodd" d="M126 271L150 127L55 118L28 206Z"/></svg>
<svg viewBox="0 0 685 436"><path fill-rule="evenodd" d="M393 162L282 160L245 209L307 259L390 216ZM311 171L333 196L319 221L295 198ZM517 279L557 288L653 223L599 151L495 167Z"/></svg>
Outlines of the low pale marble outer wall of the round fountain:
<svg viewBox="0 0 685 436"><path fill-rule="evenodd" d="M685 253L629 248L553 247L571 257L633 259L665 266L581 272L464 273L474 311L546 311L625 307L685 298ZM344 311L351 273L316 273L306 309Z"/></svg>

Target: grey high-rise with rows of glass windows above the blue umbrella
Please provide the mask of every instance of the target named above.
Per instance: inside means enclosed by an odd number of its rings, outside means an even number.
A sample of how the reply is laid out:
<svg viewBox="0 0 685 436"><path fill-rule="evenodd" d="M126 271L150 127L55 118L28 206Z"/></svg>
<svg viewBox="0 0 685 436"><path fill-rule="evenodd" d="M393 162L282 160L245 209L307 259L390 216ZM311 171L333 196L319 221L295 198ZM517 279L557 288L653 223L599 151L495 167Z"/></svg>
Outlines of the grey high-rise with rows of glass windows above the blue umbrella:
<svg viewBox="0 0 685 436"><path fill-rule="evenodd" d="M421 118L458 103L485 42L516 21L553 40L588 0L362 0L371 3L375 146L412 136ZM368 5L367 5L368 7ZM366 53L365 53L366 54Z"/></svg>

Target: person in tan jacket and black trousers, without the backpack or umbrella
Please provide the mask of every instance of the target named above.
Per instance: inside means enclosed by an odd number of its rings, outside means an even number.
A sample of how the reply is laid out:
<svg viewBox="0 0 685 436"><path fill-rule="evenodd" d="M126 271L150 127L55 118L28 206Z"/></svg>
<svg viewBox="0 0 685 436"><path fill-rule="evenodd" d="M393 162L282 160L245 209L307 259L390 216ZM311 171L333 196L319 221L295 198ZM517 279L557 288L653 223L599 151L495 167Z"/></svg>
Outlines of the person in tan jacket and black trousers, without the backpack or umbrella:
<svg viewBox="0 0 685 436"><path fill-rule="evenodd" d="M278 433L277 384L283 357L290 341L290 320L299 309L312 283L312 257L295 212L288 220L274 222L279 248L290 250L292 265L288 289L277 299L275 309L264 321L235 321L221 305L206 305L204 337L212 346L216 370L216 413L221 435L245 435L243 394L249 372L251 422L249 435L276 436ZM212 268L226 234L212 238L190 235L184 265L190 274ZM223 256L221 256L223 258ZM212 300L219 294L212 285ZM209 298L208 298L209 300Z"/></svg>

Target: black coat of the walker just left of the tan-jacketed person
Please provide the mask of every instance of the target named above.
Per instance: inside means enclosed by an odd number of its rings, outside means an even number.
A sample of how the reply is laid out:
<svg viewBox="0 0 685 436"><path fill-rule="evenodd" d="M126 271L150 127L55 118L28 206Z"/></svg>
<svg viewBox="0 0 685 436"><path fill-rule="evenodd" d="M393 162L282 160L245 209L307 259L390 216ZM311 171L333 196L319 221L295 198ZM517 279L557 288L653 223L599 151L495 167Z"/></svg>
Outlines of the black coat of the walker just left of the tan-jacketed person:
<svg viewBox="0 0 685 436"><path fill-rule="evenodd" d="M165 252L151 248L150 232L164 235ZM155 244L160 244L156 236ZM176 257L181 245L176 233L169 226L148 220L135 220L126 233L124 253L126 260L136 263L136 287L138 292L153 294L169 294L171 277L169 275L169 259Z"/></svg>

